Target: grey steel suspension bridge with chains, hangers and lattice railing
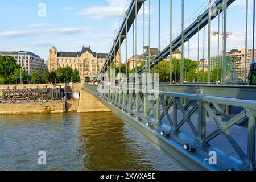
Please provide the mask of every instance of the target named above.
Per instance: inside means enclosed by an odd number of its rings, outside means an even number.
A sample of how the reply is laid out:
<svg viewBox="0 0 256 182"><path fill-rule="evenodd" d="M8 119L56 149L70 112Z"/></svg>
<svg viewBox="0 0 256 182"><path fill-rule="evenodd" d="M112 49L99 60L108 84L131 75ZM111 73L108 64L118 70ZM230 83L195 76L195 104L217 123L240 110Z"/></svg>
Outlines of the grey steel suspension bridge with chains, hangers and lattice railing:
<svg viewBox="0 0 256 182"><path fill-rule="evenodd" d="M84 85L84 89L88 90L94 97L109 107L115 115L133 126L135 130L150 140L156 148L170 156L174 162L184 169L255 170L256 86L249 86L246 83L230 85L226 82L226 16L228 7L235 1L216 0L212 2L209 0L203 11L195 13L195 17L190 23L186 24L184 23L184 0L181 0L181 30L172 35L173 7L172 0L170 0L170 41L167 42L166 47L160 50L159 26L159 53L157 56L150 57L150 53L148 53L147 57L144 56L144 66L138 70L134 69L136 74L129 76L117 85L108 84L109 80L104 80L97 86ZM247 0L245 3L248 7ZM150 0L148 5L150 11ZM143 7L145 16L145 1L131 1L122 19L119 31L114 37L108 59L101 70L101 74L109 72L115 59L115 53L120 50L124 40L126 40L127 60L127 35L131 26L134 26L134 35L137 38L137 14L141 7ZM214 7L216 8L214 9ZM213 13L217 13L217 15L212 16ZM208 26L208 36L210 37L211 22L221 15L223 16L223 73L221 82L219 84L210 83L210 67L208 64L207 83L200 83L199 80L184 83L184 43L189 42L189 39L196 36L197 33L199 36L199 31L205 26ZM246 11L246 21L247 15L248 9ZM150 50L150 12L148 24L148 48ZM145 31L143 36L145 37ZM136 41L135 39L135 55L137 55ZM208 60L210 60L210 46L209 38ZM160 73L160 67L156 71L156 65L160 65L159 63L167 56L172 57L172 52L179 47L181 47L179 84L172 83L174 73L172 72L171 63L169 80L162 80L157 89L147 84L146 82L152 77L143 80L143 73L154 73L154 75ZM137 60L135 59L135 61ZM127 66L124 74L128 75ZM246 74L247 70L245 69Z"/></svg>

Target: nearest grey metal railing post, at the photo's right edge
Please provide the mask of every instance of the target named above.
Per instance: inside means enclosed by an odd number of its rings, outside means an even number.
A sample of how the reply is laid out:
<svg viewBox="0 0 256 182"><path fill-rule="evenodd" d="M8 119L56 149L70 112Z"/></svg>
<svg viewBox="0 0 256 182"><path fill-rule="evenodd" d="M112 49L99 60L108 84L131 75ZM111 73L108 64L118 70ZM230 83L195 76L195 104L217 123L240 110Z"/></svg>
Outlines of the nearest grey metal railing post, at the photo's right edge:
<svg viewBox="0 0 256 182"><path fill-rule="evenodd" d="M247 159L243 166L255 170L255 122L256 111L254 109L245 109L248 117L248 139L247 139Z"/></svg>

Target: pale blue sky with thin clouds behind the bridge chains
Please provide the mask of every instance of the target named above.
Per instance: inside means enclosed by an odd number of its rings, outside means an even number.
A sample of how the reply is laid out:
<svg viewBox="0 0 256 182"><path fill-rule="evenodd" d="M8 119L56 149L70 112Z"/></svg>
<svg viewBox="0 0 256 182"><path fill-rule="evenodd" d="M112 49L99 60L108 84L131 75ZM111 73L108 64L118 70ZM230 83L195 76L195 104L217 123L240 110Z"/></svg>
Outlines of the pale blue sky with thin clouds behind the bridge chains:
<svg viewBox="0 0 256 182"><path fill-rule="evenodd" d="M109 53L113 36L130 0L9 0L1 2L0 51L31 51L47 60L49 48L58 51L81 51L82 46L94 52ZM151 0L151 47L158 48L158 0ZM194 20L208 0L184 0L185 22ZM228 49L245 46L245 0L236 0L228 9ZM173 0L172 32L180 31L181 1ZM199 11L196 11L199 10ZM148 0L145 2L145 44L148 44ZM253 0L249 0L248 47L252 47ZM218 30L218 18L212 22L212 32ZM205 55L207 55L205 27ZM211 55L217 55L217 36L211 34ZM170 42L170 0L160 0L160 49ZM200 58L203 57L203 30L200 31ZM184 55L187 57L187 43ZM125 60L125 44L121 46ZM143 53L143 6L137 18L137 52ZM133 28L128 34L128 57L133 56ZM197 35L189 40L189 57L197 60ZM207 56L206 56L207 57Z"/></svg>

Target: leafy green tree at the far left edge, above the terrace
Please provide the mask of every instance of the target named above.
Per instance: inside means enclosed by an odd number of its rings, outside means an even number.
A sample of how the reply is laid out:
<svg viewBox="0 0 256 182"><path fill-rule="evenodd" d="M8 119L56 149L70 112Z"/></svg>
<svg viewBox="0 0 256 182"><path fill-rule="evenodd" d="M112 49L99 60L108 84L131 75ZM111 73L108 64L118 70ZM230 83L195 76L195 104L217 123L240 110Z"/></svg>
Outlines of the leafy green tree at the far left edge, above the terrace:
<svg viewBox="0 0 256 182"><path fill-rule="evenodd" d="M16 64L16 60L11 56L0 56L0 80L2 84L11 84L13 75L16 68L20 66Z"/></svg>

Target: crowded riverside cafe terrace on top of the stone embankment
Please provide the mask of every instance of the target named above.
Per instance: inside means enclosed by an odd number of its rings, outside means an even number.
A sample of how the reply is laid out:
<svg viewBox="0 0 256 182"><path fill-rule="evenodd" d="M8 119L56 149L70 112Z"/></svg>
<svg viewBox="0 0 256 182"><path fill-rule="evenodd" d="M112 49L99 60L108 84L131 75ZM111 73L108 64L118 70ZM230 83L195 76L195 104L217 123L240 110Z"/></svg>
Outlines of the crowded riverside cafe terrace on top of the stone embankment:
<svg viewBox="0 0 256 182"><path fill-rule="evenodd" d="M3 90L3 100L9 100L11 103L15 103L19 100L26 101L46 101L48 100L60 100L64 98L65 95L68 95L68 98L71 98L71 89L69 86L62 88L61 85L53 84L53 88L23 88L16 89L16 86L13 89Z"/></svg>

